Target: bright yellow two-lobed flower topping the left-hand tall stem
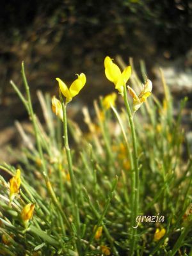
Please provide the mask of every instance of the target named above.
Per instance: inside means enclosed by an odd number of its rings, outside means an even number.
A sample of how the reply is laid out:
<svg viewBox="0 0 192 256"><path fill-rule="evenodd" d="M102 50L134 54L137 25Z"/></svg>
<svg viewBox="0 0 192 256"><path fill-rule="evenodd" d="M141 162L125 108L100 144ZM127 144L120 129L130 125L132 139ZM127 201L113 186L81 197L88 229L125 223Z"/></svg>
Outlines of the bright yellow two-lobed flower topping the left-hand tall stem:
<svg viewBox="0 0 192 256"><path fill-rule="evenodd" d="M84 84L86 83L85 74L81 73L80 75L77 75L77 76L78 76L77 79L73 81L69 89L67 85L60 78L56 78L56 81L58 81L59 83L61 93L66 98L66 102L70 102L74 96L79 94Z"/></svg>

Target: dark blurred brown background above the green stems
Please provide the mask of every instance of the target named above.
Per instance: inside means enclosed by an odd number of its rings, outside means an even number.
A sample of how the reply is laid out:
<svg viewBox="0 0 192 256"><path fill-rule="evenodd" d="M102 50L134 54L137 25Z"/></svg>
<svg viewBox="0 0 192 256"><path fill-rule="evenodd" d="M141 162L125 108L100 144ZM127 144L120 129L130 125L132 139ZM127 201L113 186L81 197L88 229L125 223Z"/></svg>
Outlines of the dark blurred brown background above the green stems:
<svg viewBox="0 0 192 256"><path fill-rule="evenodd" d="M158 68L163 67L175 99L185 95L190 99L191 12L189 0L1 2L0 161L12 161L5 148L20 140L13 126L15 120L28 120L10 85L12 79L23 92L23 60L36 111L36 90L58 94L55 77L70 84L76 73L84 72L87 76L83 91L70 104L71 115L84 104L92 106L99 95L113 91L113 85L104 76L103 61L107 55L120 55L127 64L132 57L138 72L140 60L144 60L148 77L160 97ZM190 104L189 100L186 111L190 111Z"/></svg>

